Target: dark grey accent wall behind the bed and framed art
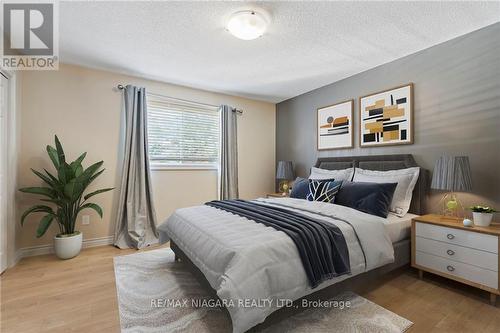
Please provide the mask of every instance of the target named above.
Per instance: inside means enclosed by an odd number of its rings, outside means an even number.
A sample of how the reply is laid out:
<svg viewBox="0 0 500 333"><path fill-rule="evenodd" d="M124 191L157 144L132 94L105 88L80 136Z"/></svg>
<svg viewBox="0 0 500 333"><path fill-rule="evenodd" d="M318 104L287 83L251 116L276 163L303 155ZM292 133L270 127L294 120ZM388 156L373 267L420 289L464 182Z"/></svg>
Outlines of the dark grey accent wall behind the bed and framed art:
<svg viewBox="0 0 500 333"><path fill-rule="evenodd" d="M414 144L360 148L358 98L409 82ZM355 148L318 151L316 109L351 98ZM293 161L299 176L325 156L409 153L432 171L441 155L467 155L473 191L460 195L464 205L500 210L500 23L281 102L276 126L276 160ZM439 211L440 197L432 192L429 211Z"/></svg>

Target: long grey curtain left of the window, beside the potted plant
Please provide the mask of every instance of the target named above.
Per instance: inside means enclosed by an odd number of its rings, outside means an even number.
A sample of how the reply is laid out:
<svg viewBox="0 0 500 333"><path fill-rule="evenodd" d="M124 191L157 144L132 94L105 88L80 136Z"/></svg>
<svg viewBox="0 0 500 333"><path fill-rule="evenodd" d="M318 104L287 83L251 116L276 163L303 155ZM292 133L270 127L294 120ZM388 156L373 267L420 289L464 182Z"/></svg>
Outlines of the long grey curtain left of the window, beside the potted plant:
<svg viewBox="0 0 500 333"><path fill-rule="evenodd" d="M149 170L146 89L127 85L125 151L114 245L140 249L158 242Z"/></svg>

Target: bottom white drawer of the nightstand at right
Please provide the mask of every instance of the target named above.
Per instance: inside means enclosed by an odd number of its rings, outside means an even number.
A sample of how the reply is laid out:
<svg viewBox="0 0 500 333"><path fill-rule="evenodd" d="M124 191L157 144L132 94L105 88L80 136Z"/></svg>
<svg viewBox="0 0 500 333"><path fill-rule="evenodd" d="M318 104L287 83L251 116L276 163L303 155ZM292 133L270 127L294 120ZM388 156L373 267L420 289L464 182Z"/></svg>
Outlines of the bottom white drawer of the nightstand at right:
<svg viewBox="0 0 500 333"><path fill-rule="evenodd" d="M498 289L498 272L463 264L423 252L415 252L415 263L438 272L453 275L471 282Z"/></svg>

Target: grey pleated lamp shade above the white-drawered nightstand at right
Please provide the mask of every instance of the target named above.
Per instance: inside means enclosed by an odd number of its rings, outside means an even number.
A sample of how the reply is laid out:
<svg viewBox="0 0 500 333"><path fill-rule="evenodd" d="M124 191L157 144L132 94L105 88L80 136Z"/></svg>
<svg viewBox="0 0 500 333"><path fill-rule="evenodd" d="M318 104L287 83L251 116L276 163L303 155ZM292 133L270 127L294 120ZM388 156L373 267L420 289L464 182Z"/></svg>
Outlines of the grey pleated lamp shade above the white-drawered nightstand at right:
<svg viewBox="0 0 500 333"><path fill-rule="evenodd" d="M434 166L431 188L455 192L471 191L472 177L469 157L441 156Z"/></svg>

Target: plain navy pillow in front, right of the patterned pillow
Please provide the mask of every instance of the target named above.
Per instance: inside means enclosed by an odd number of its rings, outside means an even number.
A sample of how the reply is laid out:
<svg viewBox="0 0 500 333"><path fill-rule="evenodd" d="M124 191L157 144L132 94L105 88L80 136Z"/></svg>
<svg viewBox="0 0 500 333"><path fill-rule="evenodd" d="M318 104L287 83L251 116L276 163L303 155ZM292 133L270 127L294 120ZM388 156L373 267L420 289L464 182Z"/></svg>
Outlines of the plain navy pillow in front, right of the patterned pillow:
<svg viewBox="0 0 500 333"><path fill-rule="evenodd" d="M335 196L335 203L385 218L396 185L398 183L344 182Z"/></svg>

